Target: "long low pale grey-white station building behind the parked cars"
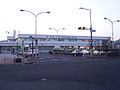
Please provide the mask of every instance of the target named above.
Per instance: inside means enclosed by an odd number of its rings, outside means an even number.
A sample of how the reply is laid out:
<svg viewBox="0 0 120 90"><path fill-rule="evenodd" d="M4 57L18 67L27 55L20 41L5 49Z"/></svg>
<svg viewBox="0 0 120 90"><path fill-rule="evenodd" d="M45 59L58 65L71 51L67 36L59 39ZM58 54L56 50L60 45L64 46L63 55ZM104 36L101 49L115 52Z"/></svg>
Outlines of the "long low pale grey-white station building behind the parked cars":
<svg viewBox="0 0 120 90"><path fill-rule="evenodd" d="M110 37L93 36L94 49L109 48ZM90 36L71 36L71 35L35 35L18 34L8 36L7 40L0 41L0 53L12 53L21 50L21 46L38 46L38 50L51 50L55 46L61 48L80 48L90 46ZM32 44L33 43L33 44Z"/></svg>

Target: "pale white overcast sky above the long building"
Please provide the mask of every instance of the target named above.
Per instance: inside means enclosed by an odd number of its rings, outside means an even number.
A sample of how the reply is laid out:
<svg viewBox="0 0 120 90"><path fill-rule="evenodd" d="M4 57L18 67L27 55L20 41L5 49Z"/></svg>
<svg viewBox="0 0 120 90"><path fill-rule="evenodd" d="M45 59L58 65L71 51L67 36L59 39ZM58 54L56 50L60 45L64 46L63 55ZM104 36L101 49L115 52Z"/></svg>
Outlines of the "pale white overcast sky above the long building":
<svg viewBox="0 0 120 90"><path fill-rule="evenodd" d="M91 9L92 28L96 30L93 36L111 37L111 21L120 20L120 0L0 0L0 40L16 30L18 34L34 34L35 19L31 13L20 12L28 10L34 14L43 13L37 17L37 34L90 36L89 30L78 30L78 27L90 26L90 13L80 7ZM114 40L120 39L120 22L114 24ZM65 28L65 30L60 30ZM10 32L9 34L6 31Z"/></svg>

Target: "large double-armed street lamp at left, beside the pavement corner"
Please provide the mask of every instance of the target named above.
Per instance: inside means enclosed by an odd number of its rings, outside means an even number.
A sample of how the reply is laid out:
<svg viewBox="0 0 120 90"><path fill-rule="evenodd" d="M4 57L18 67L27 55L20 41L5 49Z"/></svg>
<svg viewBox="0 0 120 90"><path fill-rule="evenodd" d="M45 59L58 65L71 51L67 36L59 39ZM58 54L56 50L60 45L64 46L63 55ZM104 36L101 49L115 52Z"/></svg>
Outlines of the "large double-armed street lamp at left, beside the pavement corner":
<svg viewBox="0 0 120 90"><path fill-rule="evenodd" d="M37 40L37 17L38 15L42 14L42 13L50 13L50 11L47 11L47 12L40 12L38 14L35 14L31 11L28 11L28 10L23 10L23 9L20 9L21 12L28 12L28 13L31 13L34 17L35 17L35 41L36 41L36 58L37 58L37 49L38 49L38 40Z"/></svg>

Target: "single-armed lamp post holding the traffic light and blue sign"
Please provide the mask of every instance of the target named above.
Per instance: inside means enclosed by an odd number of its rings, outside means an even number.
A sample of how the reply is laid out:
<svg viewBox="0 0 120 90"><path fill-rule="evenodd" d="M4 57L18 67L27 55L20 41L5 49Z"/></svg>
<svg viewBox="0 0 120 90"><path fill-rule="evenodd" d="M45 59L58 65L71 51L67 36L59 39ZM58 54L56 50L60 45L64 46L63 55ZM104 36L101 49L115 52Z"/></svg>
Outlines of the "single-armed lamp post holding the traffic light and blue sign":
<svg viewBox="0 0 120 90"><path fill-rule="evenodd" d="M90 50L91 50L91 57L93 57L93 39L92 39L92 19L91 19L91 9L87 9L87 8L79 8L79 9L84 9L84 10L88 10L90 12Z"/></svg>

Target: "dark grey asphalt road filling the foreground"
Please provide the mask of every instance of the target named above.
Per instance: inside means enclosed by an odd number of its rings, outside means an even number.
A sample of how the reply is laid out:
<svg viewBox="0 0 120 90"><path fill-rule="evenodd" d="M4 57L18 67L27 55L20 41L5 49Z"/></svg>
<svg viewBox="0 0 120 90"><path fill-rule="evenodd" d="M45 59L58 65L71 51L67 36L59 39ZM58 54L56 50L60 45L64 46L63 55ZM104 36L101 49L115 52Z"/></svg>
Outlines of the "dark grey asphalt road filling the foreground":
<svg viewBox="0 0 120 90"><path fill-rule="evenodd" d="M0 65L0 90L120 90L119 58L41 54L34 64Z"/></svg>

